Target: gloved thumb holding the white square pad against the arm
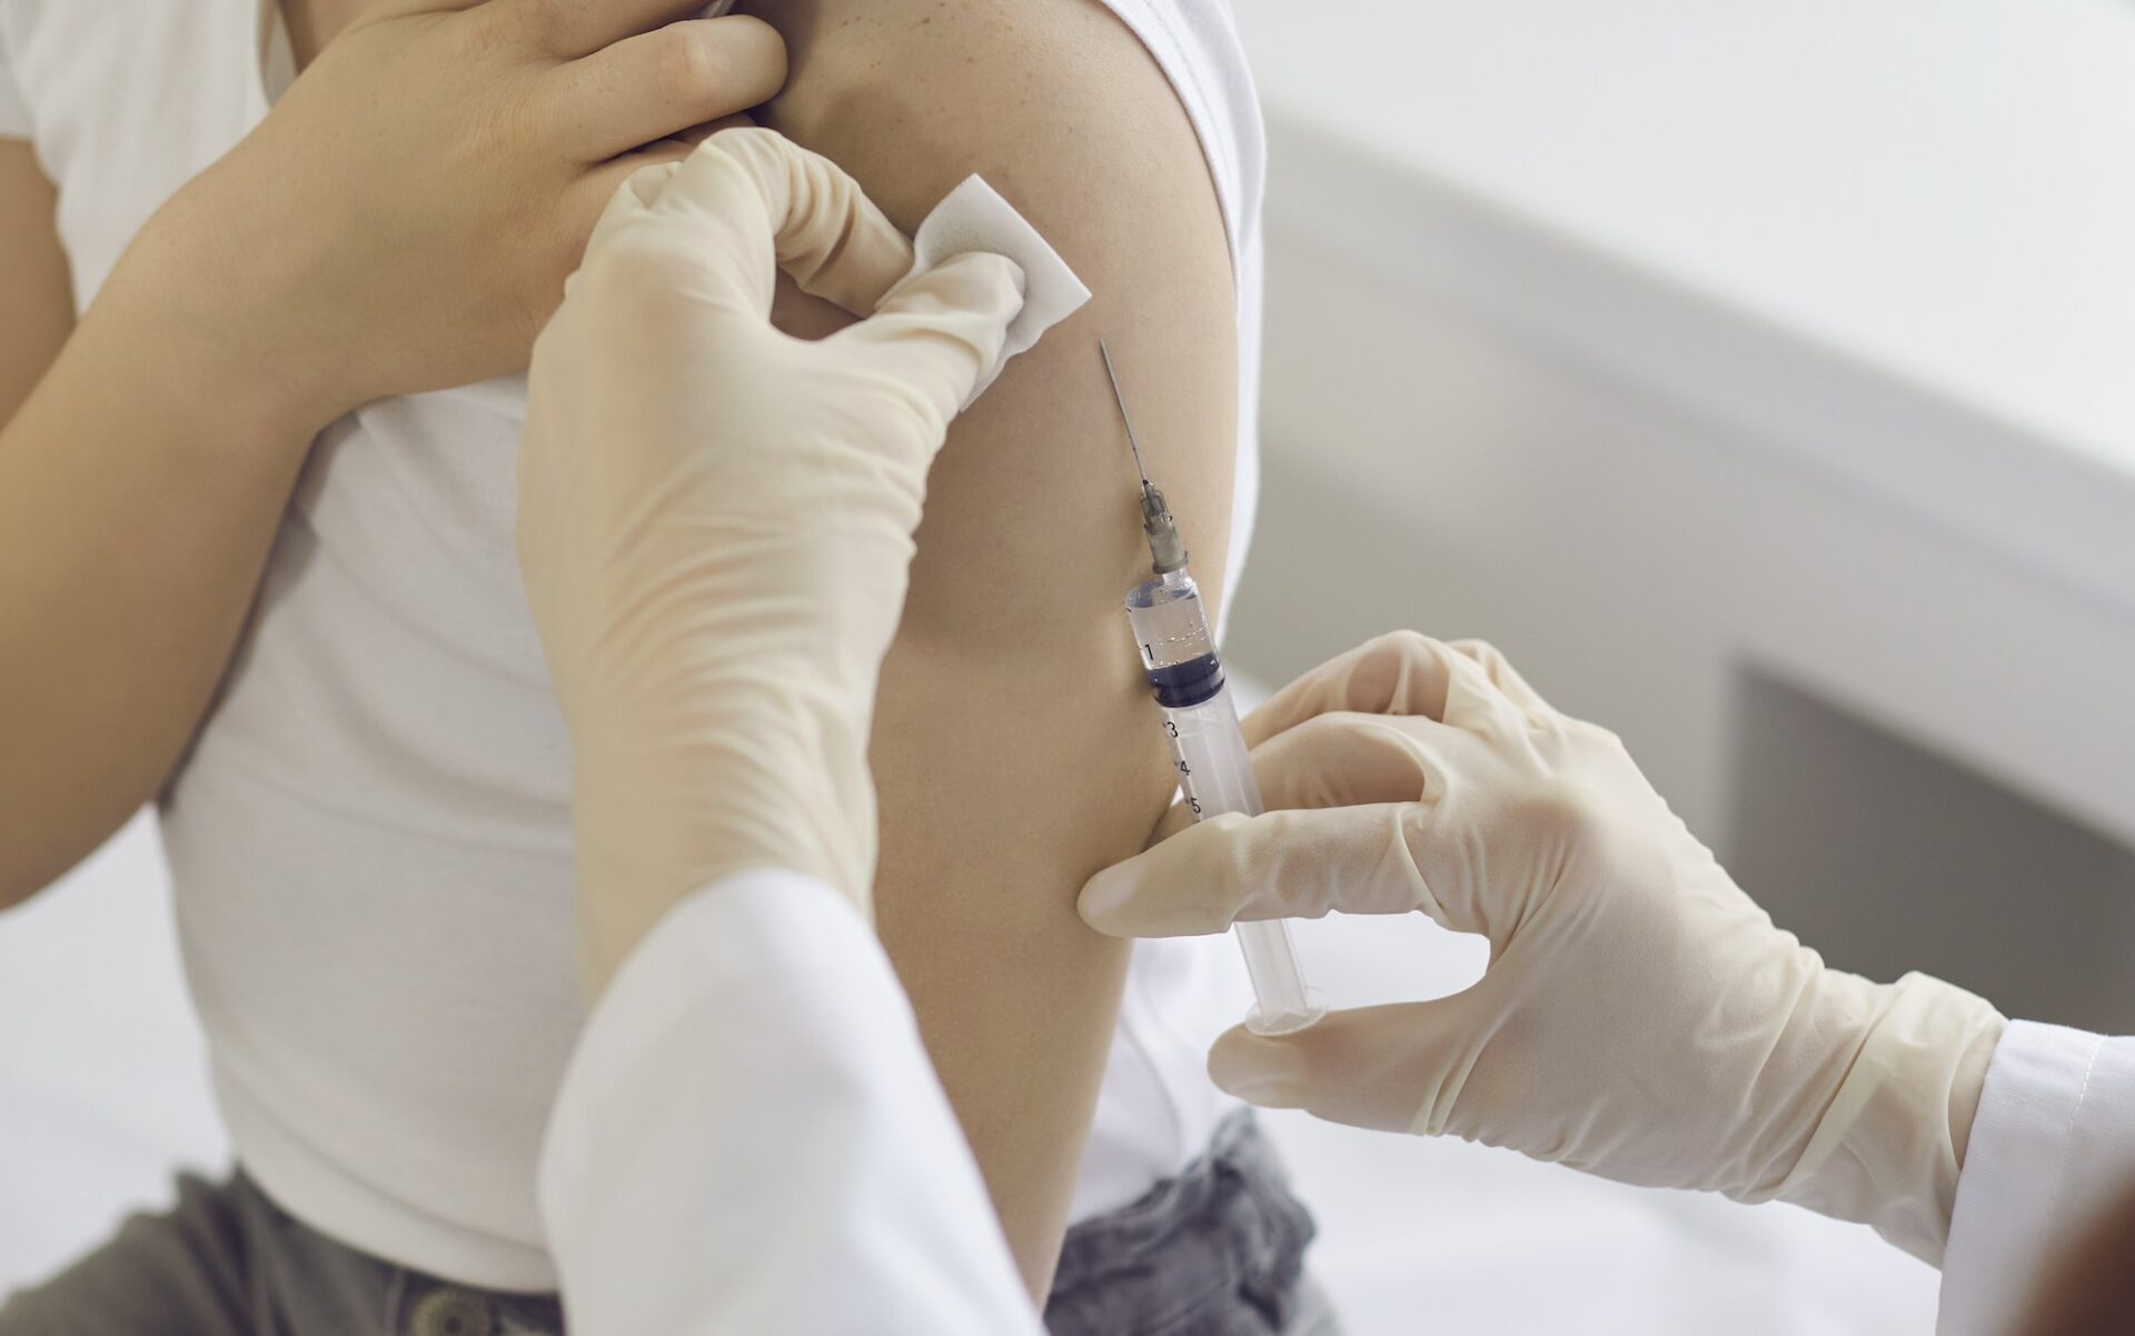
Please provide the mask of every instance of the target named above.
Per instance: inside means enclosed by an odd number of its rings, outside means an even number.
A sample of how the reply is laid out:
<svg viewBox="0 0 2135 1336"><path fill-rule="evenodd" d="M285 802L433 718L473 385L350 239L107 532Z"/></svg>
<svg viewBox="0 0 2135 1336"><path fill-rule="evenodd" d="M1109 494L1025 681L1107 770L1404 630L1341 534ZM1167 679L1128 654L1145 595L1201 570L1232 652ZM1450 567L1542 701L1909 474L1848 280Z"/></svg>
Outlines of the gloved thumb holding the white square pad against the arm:
<svg viewBox="0 0 2135 1336"><path fill-rule="evenodd" d="M1023 267L971 252L914 273L873 316L824 341L914 395L939 433L999 369L1018 312Z"/></svg>

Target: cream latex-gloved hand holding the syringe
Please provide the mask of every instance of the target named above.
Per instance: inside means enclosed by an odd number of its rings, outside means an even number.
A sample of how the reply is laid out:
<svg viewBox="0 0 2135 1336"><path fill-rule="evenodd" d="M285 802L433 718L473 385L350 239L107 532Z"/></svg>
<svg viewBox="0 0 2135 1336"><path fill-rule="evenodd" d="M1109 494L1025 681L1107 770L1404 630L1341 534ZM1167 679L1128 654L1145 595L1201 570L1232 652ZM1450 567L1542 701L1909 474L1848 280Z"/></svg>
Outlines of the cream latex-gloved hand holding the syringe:
<svg viewBox="0 0 2135 1336"><path fill-rule="evenodd" d="M1488 645L1373 640L1245 732L1268 815L1202 822L1097 873L1095 928L1420 909L1488 937L1490 967L1437 1001L1230 1031L1217 1084L1623 1182L1783 1197L1941 1257L1994 1007L1924 975L1825 969L1614 734L1554 711Z"/></svg>

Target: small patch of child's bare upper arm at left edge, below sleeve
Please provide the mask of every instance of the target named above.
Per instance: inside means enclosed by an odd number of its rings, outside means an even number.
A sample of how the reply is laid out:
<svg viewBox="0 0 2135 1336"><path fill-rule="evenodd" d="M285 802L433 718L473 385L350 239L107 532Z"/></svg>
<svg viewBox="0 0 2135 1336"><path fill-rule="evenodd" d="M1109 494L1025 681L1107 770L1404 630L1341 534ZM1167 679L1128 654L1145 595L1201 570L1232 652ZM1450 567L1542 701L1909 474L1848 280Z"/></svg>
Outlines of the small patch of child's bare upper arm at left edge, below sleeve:
<svg viewBox="0 0 2135 1336"><path fill-rule="evenodd" d="M0 429L9 425L75 329L75 292L60 250L56 196L36 154L0 139Z"/></svg>

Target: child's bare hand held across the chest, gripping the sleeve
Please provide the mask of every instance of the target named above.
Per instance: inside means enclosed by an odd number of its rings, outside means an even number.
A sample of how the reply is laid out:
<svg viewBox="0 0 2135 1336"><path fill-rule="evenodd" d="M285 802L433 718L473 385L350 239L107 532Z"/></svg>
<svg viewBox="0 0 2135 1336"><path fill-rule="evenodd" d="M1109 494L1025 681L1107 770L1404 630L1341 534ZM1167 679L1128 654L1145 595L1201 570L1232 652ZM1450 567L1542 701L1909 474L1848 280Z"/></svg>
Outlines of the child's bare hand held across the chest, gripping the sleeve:
<svg viewBox="0 0 2135 1336"><path fill-rule="evenodd" d="M786 81L777 32L700 6L378 0L122 280L310 429L521 369L623 177Z"/></svg>

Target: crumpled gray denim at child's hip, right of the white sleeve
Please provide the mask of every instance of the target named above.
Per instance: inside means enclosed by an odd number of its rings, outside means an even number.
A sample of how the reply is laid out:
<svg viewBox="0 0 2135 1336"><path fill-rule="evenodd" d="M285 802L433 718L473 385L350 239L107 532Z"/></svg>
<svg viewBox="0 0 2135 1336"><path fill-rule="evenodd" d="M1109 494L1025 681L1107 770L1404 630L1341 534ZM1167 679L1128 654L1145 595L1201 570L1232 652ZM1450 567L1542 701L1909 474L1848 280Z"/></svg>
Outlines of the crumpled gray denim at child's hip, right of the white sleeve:
<svg viewBox="0 0 2135 1336"><path fill-rule="evenodd" d="M1068 1231L1053 1336L1339 1336L1304 1278L1313 1219L1253 1116L1232 1114L1176 1178Z"/></svg>

